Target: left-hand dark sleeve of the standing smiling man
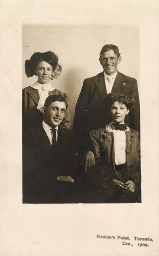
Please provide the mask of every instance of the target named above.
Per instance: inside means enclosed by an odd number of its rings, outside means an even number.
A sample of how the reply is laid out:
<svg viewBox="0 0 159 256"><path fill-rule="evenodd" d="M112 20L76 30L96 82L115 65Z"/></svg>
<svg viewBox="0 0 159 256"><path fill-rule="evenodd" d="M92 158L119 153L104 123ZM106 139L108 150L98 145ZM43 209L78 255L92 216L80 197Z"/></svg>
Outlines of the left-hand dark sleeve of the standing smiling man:
<svg viewBox="0 0 159 256"><path fill-rule="evenodd" d="M73 132L77 136L82 136L82 129L85 126L85 112L89 98L89 85L87 79L84 80L80 95L75 107L74 120L73 120Z"/></svg>

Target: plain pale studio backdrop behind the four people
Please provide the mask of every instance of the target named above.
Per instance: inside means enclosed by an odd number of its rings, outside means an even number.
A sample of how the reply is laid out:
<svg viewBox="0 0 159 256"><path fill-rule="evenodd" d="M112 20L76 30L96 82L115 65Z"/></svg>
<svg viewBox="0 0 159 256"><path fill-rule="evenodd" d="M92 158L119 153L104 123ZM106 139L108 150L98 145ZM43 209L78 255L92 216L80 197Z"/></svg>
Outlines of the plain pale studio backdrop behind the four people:
<svg viewBox="0 0 159 256"><path fill-rule="evenodd" d="M69 96L71 128L74 107L85 78L103 71L99 53L105 44L119 47L122 61L118 70L137 79L139 86L140 52L139 26L125 25L76 25L76 24L25 24L22 26L22 87L33 85L37 77L27 78L24 72L25 60L34 52L53 51L62 63L62 73L54 79L53 87Z"/></svg>

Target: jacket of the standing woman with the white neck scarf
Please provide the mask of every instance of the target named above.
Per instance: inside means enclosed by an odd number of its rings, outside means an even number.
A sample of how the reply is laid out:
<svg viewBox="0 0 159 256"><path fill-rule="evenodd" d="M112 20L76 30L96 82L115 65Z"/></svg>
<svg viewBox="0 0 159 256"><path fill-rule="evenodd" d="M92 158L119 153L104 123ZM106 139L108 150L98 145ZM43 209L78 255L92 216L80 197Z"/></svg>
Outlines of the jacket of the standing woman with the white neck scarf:
<svg viewBox="0 0 159 256"><path fill-rule="evenodd" d="M68 95L60 90L54 89L49 91L49 95L61 95L68 102ZM31 128L40 124L43 120L42 113L36 108L39 101L38 90L28 86L22 89L22 127L23 129ZM63 128L70 128L70 111L66 109L65 118L60 124Z"/></svg>

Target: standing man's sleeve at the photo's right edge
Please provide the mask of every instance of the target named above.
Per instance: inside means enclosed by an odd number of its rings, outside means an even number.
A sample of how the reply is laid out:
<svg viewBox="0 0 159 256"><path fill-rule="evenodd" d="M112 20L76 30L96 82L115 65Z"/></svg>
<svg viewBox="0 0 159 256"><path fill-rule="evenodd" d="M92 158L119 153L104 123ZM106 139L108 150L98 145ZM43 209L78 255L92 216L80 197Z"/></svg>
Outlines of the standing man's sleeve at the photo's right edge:
<svg viewBox="0 0 159 256"><path fill-rule="evenodd" d="M140 131L140 101L137 80L133 78L131 86L131 95L135 99L134 108L130 111L130 127Z"/></svg>

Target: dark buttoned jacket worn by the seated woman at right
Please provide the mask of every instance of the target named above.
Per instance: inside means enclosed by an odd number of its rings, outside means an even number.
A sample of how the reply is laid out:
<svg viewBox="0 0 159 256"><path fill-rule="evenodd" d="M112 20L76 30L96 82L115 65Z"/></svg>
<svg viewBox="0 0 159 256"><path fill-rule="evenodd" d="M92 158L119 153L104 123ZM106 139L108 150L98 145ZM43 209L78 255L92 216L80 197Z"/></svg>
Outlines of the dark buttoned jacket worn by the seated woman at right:
<svg viewBox="0 0 159 256"><path fill-rule="evenodd" d="M130 128L126 134L126 175L135 183L141 180L139 132ZM105 128L93 130L90 138L95 154L95 170L100 173L101 182L111 183L116 177L113 132Z"/></svg>

